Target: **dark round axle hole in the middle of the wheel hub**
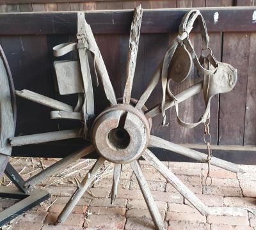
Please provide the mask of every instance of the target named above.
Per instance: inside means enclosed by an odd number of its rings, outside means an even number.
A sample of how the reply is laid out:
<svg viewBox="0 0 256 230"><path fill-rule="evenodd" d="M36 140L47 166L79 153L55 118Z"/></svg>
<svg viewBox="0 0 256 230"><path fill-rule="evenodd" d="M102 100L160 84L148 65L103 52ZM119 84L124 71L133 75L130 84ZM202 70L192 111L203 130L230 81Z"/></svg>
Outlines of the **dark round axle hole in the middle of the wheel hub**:
<svg viewBox="0 0 256 230"><path fill-rule="evenodd" d="M109 132L108 139L115 148L125 149L129 146L131 138L124 128L114 128Z"/></svg>

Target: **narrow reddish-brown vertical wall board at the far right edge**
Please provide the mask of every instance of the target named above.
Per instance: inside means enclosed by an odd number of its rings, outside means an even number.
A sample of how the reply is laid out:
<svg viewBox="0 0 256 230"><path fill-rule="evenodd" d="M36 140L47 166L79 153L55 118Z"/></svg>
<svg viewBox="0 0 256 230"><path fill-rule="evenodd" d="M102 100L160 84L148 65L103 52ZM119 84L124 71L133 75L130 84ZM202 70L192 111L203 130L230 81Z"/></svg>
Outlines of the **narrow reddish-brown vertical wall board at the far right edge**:
<svg viewBox="0 0 256 230"><path fill-rule="evenodd" d="M250 34L250 56L248 65L248 82L244 123L244 145L256 144L256 33Z"/></svg>

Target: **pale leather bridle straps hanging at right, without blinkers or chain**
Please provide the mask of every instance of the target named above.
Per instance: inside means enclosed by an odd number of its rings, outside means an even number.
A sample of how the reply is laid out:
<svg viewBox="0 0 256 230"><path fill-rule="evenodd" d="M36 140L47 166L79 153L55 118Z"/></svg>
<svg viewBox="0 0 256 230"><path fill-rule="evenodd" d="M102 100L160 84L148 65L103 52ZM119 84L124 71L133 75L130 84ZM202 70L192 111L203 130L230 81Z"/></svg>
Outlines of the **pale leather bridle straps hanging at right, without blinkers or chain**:
<svg viewBox="0 0 256 230"><path fill-rule="evenodd" d="M189 40L189 33L191 33L193 29L193 24L195 23L195 20L198 19L198 23L200 26L200 31L202 35L202 53L200 58L196 56L195 50L193 48L193 45L191 44L191 41ZM168 72L168 66L170 65L170 62L172 61L173 54L175 50L177 49L177 46L179 43L184 43L186 45L186 48L188 49L189 54L191 55L191 58L193 60L194 65L196 66L198 72L204 73L204 91L208 91L209 87L209 78L214 77L214 73L218 69L218 61L216 61L215 57L212 55L212 51L209 47L209 36L207 33L207 28L205 25L205 20L202 17L200 11L198 10L191 10L188 11L182 18L182 22L179 26L179 36L173 40L172 45L170 46L170 49L167 50L164 61L163 61L163 68L162 68L162 75L161 75L161 81L162 81L162 89L163 89L163 100L161 104L161 110L162 110L162 116L163 116L163 125L166 123L166 115L164 111L164 104L165 104L165 98L166 93L170 97L173 98L175 102L175 111L177 115L177 121L180 125L183 127L193 128L196 127L196 125L199 125L200 123L204 123L207 119L210 117L210 102L211 98L205 98L205 105L206 109L202 117L196 122L196 123L187 123L185 121L182 121L179 117L179 105L177 103L177 100L175 99L175 96L173 95L172 91L170 90L170 81L171 78L168 80L167 72ZM208 50L209 52L205 55L205 50ZM207 66L207 68L205 68ZM210 68L211 66L211 68ZM208 82L208 83L207 83ZM167 91L167 92L166 92Z"/></svg>

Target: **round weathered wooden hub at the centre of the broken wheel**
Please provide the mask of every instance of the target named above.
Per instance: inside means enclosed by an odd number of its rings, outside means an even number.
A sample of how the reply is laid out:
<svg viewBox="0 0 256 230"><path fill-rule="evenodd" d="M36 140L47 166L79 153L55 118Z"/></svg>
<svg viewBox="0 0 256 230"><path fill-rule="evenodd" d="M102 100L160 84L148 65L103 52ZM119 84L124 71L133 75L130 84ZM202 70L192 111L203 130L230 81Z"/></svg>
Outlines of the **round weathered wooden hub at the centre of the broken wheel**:
<svg viewBox="0 0 256 230"><path fill-rule="evenodd" d="M132 105L103 111L92 129L95 149L110 162L124 164L140 157L148 146L150 121Z"/></svg>

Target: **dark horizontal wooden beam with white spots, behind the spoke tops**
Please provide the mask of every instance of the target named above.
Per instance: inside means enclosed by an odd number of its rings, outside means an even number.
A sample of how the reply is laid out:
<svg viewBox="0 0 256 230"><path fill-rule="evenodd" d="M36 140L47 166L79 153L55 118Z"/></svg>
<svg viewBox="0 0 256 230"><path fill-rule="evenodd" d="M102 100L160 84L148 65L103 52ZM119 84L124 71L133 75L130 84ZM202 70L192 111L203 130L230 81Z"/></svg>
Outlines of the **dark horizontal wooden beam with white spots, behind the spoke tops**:
<svg viewBox="0 0 256 230"><path fill-rule="evenodd" d="M141 33L173 33L183 15L191 9L144 10ZM252 15L255 7L202 8L208 32L256 31ZM218 11L219 20L214 22ZM85 18L94 34L129 33L132 10L86 11ZM77 12L1 13L0 35L76 34ZM195 31L199 31L195 25Z"/></svg>

